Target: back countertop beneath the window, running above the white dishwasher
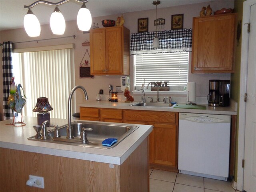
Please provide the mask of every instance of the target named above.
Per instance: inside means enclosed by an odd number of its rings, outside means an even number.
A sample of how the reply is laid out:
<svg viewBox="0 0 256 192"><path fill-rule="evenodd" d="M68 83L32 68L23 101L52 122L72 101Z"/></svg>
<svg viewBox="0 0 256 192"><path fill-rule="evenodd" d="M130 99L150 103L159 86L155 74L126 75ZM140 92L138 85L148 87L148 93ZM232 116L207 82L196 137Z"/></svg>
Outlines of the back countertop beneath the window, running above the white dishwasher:
<svg viewBox="0 0 256 192"><path fill-rule="evenodd" d="M184 113L200 113L200 114L222 114L222 115L236 115L234 107L213 107L208 104L198 104L206 106L206 109L183 109L183 108L170 108L170 107L141 107L141 106L130 106L137 102L126 103L121 102L110 102L110 101L96 101L87 100L80 104L79 107L96 107L96 108L115 108L115 109L132 109L132 110L150 110L150 111L168 111L168 112L184 112ZM182 103L179 103L182 104Z"/></svg>

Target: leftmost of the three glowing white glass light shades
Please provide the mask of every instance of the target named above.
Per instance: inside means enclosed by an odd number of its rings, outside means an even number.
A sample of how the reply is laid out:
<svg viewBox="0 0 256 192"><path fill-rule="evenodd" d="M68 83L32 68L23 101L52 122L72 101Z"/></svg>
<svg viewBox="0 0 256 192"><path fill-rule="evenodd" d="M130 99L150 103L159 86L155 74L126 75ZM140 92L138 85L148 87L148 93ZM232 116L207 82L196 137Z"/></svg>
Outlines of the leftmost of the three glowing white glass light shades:
<svg viewBox="0 0 256 192"><path fill-rule="evenodd" d="M24 28L30 37L38 37L40 35L40 23L30 9L28 9L28 13L24 16Z"/></svg>

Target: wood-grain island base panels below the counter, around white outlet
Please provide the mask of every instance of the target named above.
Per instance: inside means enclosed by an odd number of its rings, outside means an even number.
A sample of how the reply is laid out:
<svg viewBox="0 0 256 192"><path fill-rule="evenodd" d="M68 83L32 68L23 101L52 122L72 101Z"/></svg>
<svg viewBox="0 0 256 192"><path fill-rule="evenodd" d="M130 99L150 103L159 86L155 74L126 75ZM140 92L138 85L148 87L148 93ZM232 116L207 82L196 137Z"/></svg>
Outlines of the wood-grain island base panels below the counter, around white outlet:
<svg viewBox="0 0 256 192"><path fill-rule="evenodd" d="M148 139L122 163L79 160L0 148L1 192L148 192ZM26 185L44 177L44 189Z"/></svg>

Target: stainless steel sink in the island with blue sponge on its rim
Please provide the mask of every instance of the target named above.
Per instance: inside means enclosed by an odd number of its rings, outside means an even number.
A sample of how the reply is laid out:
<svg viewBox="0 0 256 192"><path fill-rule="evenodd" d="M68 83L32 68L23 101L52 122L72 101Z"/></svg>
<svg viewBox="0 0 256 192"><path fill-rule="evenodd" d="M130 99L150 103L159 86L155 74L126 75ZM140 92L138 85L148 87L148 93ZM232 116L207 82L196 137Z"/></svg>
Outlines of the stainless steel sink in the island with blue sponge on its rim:
<svg viewBox="0 0 256 192"><path fill-rule="evenodd" d="M55 129L47 131L47 135L50 138L43 140L40 138L35 138L35 136L29 137L28 140L40 141L40 142L50 142L59 144L69 144L83 147L110 149L118 145L124 138L129 136L138 126L134 125L122 125L108 122L84 122L84 121L74 121L72 122L72 127L74 130L74 139L66 138L68 124L60 126L59 133L60 137L54 137ZM84 144L81 138L82 128L92 128L92 131L86 131L89 143ZM118 142L112 146L103 146L102 141L108 138L116 138Z"/></svg>

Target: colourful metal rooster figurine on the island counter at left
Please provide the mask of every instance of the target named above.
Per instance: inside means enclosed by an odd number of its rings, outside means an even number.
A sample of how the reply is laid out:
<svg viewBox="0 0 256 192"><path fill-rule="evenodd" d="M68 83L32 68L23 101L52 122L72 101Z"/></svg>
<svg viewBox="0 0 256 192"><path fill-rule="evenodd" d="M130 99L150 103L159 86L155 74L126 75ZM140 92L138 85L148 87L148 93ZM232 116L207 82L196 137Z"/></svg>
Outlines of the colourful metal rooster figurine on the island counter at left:
<svg viewBox="0 0 256 192"><path fill-rule="evenodd" d="M22 109L26 105L27 101L21 95L20 88L22 88L21 84L18 84L17 86L15 86L14 77L12 77L12 80L11 80L11 83L10 83L10 95L8 97L7 104L12 109L12 112L16 112L16 113L21 114L21 121L20 122L14 122L15 116L13 115L12 124L9 124L9 125L13 125L13 126L17 126L17 127L26 125L22 121ZM23 88L22 88L22 91L23 91L23 94L24 94ZM24 94L24 97L26 98L25 94ZM20 125L15 125L16 123L18 123Z"/></svg>

